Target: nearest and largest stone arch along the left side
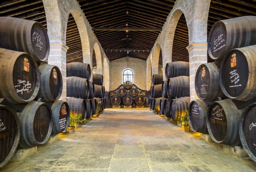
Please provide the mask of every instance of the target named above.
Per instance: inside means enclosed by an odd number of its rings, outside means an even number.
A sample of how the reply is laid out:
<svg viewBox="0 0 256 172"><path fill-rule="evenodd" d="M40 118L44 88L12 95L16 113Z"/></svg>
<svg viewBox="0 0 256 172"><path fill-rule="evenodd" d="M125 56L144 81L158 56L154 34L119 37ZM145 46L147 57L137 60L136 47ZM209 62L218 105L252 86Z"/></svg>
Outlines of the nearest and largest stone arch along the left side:
<svg viewBox="0 0 256 172"><path fill-rule="evenodd" d="M74 20L78 27L78 31L79 31L79 35L80 35L80 39L81 39L81 43L82 43L83 62L92 65L92 60L91 60L91 56L90 56L90 42L89 42L89 38L88 38L86 24L85 24L84 18L83 18L84 14L82 13L82 10L78 10L76 8L71 8L70 13L74 17ZM64 32L65 40L66 40L67 24L68 24L68 22L66 21L66 27L65 27L65 32Z"/></svg>

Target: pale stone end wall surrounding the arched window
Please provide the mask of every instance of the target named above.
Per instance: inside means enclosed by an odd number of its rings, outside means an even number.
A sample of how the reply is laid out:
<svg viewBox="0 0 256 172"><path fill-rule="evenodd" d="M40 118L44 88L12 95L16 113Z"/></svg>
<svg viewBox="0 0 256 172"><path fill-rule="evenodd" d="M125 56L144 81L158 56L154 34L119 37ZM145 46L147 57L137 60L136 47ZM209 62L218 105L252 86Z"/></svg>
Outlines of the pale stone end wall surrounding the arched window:
<svg viewBox="0 0 256 172"><path fill-rule="evenodd" d="M130 68L134 72L134 84L146 90L146 61L137 58L120 58L110 61L110 91L122 84L124 69Z"/></svg>

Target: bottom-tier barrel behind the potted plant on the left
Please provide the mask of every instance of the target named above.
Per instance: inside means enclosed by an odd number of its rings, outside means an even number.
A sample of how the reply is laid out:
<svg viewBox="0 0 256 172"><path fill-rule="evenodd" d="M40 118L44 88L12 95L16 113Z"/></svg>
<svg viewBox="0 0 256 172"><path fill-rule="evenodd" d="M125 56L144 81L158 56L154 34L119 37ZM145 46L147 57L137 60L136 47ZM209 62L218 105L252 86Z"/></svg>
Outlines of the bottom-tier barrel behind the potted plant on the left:
<svg viewBox="0 0 256 172"><path fill-rule="evenodd" d="M84 99L67 97L67 103L70 110L70 116L82 114L82 119L86 118L86 104Z"/></svg>

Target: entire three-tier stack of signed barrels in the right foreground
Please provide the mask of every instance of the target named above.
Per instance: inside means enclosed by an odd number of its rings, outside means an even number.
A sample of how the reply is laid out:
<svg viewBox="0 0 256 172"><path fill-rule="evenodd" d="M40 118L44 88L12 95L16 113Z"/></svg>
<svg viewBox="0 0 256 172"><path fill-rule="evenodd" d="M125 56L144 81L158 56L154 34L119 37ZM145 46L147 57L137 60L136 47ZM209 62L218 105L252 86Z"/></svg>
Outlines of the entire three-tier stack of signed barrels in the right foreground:
<svg viewBox="0 0 256 172"><path fill-rule="evenodd" d="M212 26L208 54L215 62L198 68L195 87L201 100L191 102L189 113L193 130L209 132L217 143L242 143L254 161L256 116L251 103L256 102L255 23L256 16L244 16Z"/></svg>

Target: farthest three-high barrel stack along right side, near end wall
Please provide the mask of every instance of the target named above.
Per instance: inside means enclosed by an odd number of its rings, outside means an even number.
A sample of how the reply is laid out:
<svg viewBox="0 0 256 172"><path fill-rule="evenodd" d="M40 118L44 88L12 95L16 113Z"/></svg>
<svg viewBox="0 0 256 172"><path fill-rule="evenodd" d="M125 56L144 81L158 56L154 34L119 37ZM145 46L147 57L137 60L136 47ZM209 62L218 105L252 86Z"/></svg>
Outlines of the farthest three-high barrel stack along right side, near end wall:
<svg viewBox="0 0 256 172"><path fill-rule="evenodd" d="M149 102L149 107L156 113L160 112L160 102L162 101L162 82L162 74L154 74L152 76L152 86L150 87L151 98Z"/></svg>

